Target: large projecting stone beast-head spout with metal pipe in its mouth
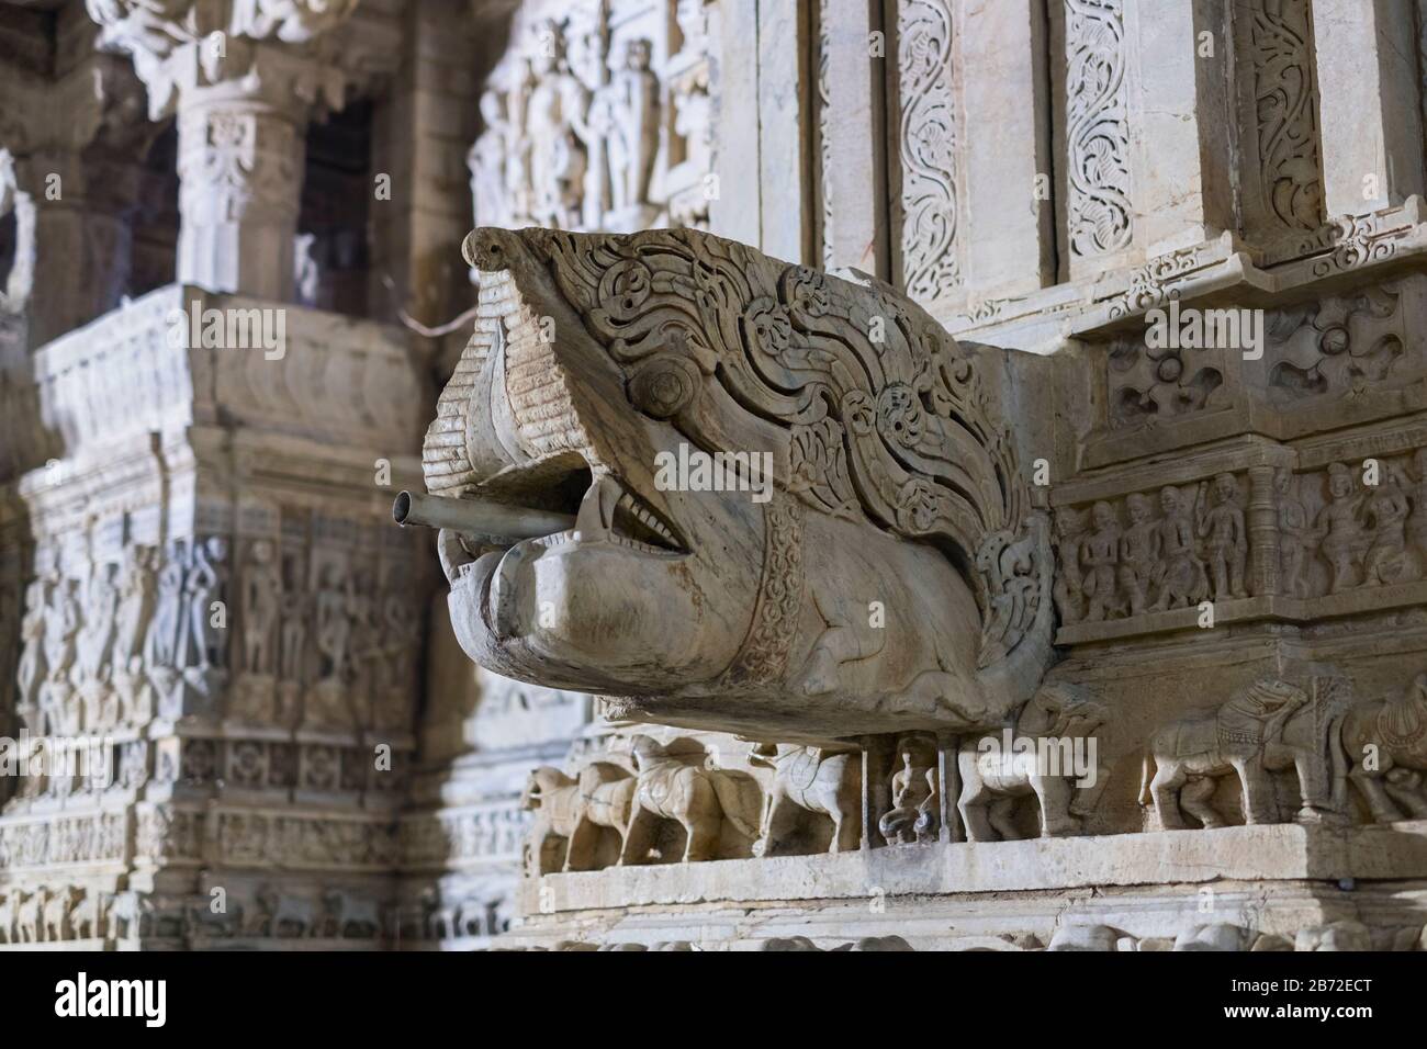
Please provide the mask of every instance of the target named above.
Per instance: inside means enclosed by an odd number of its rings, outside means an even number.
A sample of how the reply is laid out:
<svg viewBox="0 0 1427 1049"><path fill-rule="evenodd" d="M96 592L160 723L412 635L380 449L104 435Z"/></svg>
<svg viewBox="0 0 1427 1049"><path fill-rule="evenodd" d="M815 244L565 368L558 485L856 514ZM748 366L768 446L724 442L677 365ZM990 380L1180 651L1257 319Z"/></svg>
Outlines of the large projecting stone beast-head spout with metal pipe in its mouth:
<svg viewBox="0 0 1427 1049"><path fill-rule="evenodd" d="M445 525L472 659L761 738L990 725L1032 694L1050 558L1000 351L698 231L482 228L465 255L477 331L411 520Z"/></svg>

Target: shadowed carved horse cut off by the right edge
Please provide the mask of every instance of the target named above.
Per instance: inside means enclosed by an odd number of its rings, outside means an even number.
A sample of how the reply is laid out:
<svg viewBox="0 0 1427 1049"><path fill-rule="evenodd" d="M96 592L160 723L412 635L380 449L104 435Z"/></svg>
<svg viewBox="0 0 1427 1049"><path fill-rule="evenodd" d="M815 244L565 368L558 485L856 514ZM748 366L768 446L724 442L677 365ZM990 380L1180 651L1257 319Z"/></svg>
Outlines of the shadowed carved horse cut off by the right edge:
<svg viewBox="0 0 1427 1049"><path fill-rule="evenodd" d="M1427 674L1418 674L1396 699L1351 708L1343 719L1343 748L1349 772L1341 794L1351 782L1374 824L1403 818L1394 796L1411 815L1427 815L1418 811L1421 801L1416 792L1406 789L1420 782L1411 772L1427 771ZM1373 755L1376 761L1370 761Z"/></svg>

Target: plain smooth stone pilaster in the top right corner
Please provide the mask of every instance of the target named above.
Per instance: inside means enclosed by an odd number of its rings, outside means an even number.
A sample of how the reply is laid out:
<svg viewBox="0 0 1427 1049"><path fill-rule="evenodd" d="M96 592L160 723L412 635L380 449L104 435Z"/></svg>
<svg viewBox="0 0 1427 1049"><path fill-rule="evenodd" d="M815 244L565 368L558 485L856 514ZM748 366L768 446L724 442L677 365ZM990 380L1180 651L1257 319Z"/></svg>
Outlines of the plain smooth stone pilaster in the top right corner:
<svg viewBox="0 0 1427 1049"><path fill-rule="evenodd" d="M1364 214L1424 191L1413 4L1313 0L1323 196L1329 216Z"/></svg>

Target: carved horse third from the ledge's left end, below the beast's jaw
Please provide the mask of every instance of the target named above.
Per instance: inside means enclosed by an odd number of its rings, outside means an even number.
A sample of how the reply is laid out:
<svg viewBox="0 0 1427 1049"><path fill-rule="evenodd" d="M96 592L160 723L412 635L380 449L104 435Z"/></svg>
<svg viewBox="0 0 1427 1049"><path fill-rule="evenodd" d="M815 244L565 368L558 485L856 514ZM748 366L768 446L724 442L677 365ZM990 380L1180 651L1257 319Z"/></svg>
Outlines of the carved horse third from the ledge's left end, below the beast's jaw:
<svg viewBox="0 0 1427 1049"><path fill-rule="evenodd" d="M645 861L661 819L684 828L685 863L714 859L725 819L745 838L758 838L762 805L752 776L689 765L646 735L634 738L632 756L638 786L621 863Z"/></svg>

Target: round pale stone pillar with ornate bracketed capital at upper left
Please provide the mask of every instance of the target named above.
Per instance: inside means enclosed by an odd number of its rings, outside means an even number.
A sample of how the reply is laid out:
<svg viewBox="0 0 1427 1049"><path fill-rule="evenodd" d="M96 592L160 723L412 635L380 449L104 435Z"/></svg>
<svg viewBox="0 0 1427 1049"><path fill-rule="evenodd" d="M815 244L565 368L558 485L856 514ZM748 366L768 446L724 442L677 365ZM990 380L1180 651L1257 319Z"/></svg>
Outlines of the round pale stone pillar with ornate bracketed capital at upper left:
<svg viewBox="0 0 1427 1049"><path fill-rule="evenodd" d="M177 116L180 281L293 298L307 121L344 101L330 30L354 6L180 3L157 24L131 4L93 10L101 43L133 56L151 118Z"/></svg>

